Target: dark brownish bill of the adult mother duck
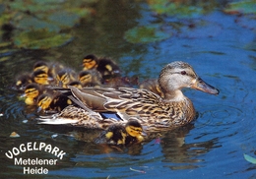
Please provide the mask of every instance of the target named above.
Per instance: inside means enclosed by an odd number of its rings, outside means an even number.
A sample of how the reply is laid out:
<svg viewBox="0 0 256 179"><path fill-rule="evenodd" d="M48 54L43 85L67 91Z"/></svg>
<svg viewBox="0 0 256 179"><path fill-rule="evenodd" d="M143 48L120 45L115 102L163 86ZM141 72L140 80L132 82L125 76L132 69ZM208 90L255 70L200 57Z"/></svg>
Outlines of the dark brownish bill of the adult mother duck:
<svg viewBox="0 0 256 179"><path fill-rule="evenodd" d="M198 78L196 83L191 87L192 89L202 90L207 93L211 94L219 94L219 89L210 86L209 84L205 83L201 78Z"/></svg>

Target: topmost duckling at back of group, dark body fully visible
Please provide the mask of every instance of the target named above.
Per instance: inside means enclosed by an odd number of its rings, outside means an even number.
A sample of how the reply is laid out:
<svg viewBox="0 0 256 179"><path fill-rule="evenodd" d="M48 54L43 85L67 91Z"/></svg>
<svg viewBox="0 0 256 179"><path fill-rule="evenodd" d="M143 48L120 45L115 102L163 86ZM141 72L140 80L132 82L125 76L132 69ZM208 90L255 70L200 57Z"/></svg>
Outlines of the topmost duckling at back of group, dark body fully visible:
<svg viewBox="0 0 256 179"><path fill-rule="evenodd" d="M119 66L110 58L97 58L96 55L90 54L84 57L83 60L84 70L98 71L103 80L111 79L119 76L121 71Z"/></svg>

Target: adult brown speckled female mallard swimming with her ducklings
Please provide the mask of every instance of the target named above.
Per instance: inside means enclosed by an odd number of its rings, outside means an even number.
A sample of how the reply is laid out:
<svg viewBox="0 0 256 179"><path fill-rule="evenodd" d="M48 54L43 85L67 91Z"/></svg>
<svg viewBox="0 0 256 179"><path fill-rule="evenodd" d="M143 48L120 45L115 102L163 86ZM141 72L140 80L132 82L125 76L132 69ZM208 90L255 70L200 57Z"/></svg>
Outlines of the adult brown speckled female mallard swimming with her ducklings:
<svg viewBox="0 0 256 179"><path fill-rule="evenodd" d="M135 118L144 127L144 131L169 130L188 124L195 118L193 103L181 89L219 93L218 89L199 78L189 64L180 61L163 67L159 84L163 97L147 89L69 87L80 107L66 108L60 114L46 117L44 123L72 123L76 126L105 129L108 125L104 124L125 124L130 118ZM101 113L115 113L118 119L109 117L102 120Z"/></svg>

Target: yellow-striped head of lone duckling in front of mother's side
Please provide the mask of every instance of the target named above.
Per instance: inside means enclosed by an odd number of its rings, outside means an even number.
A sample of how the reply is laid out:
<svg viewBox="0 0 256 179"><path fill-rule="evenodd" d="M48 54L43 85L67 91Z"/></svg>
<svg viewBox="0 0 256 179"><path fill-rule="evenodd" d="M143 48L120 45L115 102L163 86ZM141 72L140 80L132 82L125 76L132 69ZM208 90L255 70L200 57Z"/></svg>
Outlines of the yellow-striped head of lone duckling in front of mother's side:
<svg viewBox="0 0 256 179"><path fill-rule="evenodd" d="M137 142L144 141L143 128L137 120L129 120L125 125L125 131L129 136L136 138Z"/></svg>

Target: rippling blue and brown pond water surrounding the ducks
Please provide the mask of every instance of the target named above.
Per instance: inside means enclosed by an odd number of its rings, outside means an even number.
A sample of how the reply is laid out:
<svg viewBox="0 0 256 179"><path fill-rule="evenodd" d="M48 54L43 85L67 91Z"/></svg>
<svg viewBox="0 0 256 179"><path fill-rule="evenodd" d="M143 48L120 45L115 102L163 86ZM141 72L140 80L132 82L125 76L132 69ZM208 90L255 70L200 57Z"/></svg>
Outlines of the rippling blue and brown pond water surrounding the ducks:
<svg viewBox="0 0 256 179"><path fill-rule="evenodd" d="M172 30L168 25L177 19L158 18L146 3L104 1L94 7L93 21L84 21L71 30L77 36L71 43L48 50L18 50L2 58L1 178L255 178L255 165L243 157L244 153L255 156L256 38L251 26L255 16L253 20L224 14L224 4L215 3L215 8L204 16L178 20L194 23L195 29L183 26ZM156 22L164 24L163 29L171 30L173 35L135 44L123 38L126 30ZM124 75L141 79L157 78L162 66L182 60L221 92L215 96L185 89L198 118L128 149L83 141L83 135L93 136L94 131L37 125L35 109L19 100L18 91L10 89L14 79L21 72L32 70L33 63L40 59L59 61L79 71L84 55L89 53L112 57ZM21 137L10 138L14 131ZM5 153L30 142L57 147L66 155L56 165L43 165L49 170L47 175L24 175L24 165L15 165ZM19 157L58 159L38 150L23 152Z"/></svg>

